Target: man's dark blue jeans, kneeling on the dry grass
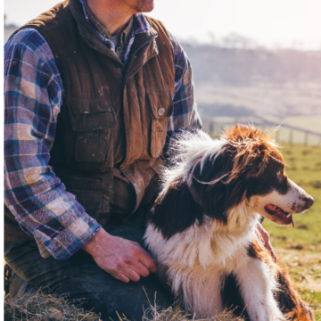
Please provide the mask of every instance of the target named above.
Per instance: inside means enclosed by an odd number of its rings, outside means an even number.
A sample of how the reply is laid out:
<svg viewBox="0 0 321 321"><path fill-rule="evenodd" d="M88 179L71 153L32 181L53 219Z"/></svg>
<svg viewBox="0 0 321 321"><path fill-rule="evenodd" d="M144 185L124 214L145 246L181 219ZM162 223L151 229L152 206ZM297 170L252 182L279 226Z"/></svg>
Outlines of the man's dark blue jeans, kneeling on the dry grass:
<svg viewBox="0 0 321 321"><path fill-rule="evenodd" d="M105 229L111 235L143 246L146 210L149 206L141 207L121 225ZM149 308L149 301L153 305L155 293L161 309L173 303L169 292L155 275L141 277L136 283L122 283L99 268L86 251L79 250L70 259L43 259L36 242L28 241L7 246L4 259L16 274L12 277L11 296L40 287L57 294L68 293L70 299L84 299L84 309L102 313L103 320L109 320L109 317L118 320L116 311L128 319L141 320L144 309Z"/></svg>

